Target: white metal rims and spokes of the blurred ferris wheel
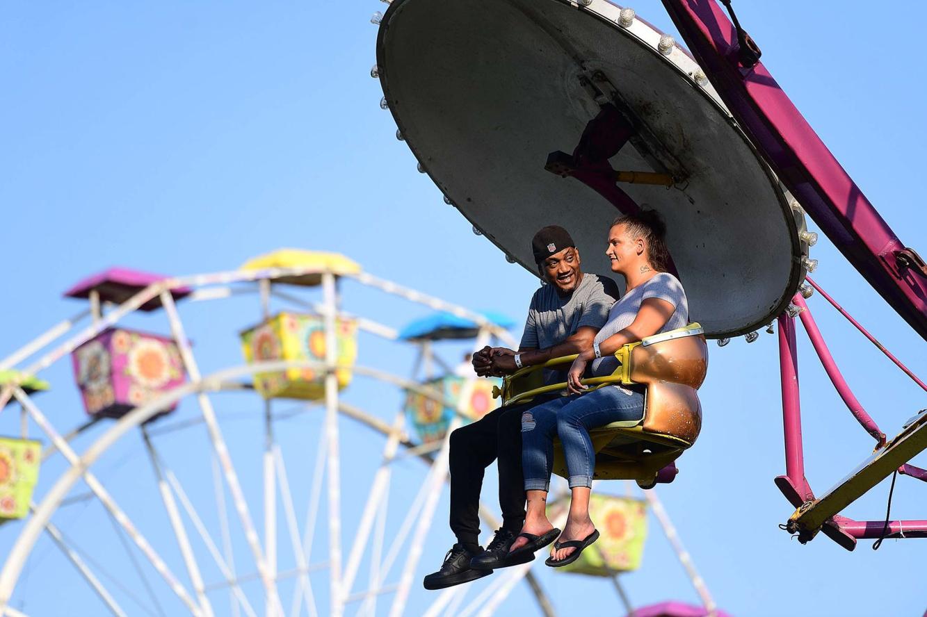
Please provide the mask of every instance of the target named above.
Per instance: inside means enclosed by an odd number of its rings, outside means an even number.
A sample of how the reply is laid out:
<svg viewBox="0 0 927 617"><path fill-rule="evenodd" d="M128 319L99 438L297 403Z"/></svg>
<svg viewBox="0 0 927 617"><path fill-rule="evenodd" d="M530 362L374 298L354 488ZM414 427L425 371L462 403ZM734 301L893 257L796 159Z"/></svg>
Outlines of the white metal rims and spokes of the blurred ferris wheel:
<svg viewBox="0 0 927 617"><path fill-rule="evenodd" d="M323 287L323 302L310 303L304 299L289 294L281 290L282 285L273 285L273 281L283 277L293 277L305 274L320 274ZM154 417L160 410L166 409L174 402L184 397L196 397L197 404L201 412L202 422L207 425L210 435L210 444L212 447L213 463L217 476L222 476L224 485L231 493L235 510L238 514L242 529L248 540L248 547L251 550L252 557L258 570L258 577L264 587L265 597L265 614L283 615L283 604L279 597L276 587L276 581L284 577L298 576L298 584L294 589L293 599L291 602L291 614L298 614L301 611L302 603L305 603L311 617L318 615L315 607L314 596L312 593L311 583L308 574L320 568L330 571L330 606L329 614L339 616L347 604L351 602L362 601L362 613L373 614L375 609L376 598L383 594L393 593L394 598L389 609L390 617L399 617L405 609L413 584L413 575L418 560L421 557L424 545L424 538L430 528L433 515L440 495L440 487L444 483L447 475L447 456L449 451L450 440L445 439L437 444L417 445L409 439L403 430L403 414L400 412L392 424L388 424L375 416L365 413L348 403L341 401L337 387L336 371L339 368L350 368L350 370L360 376L369 377L379 382L392 384L432 398L440 404L453 407L451 401L445 400L442 393L434 388L423 386L409 379L397 375L380 371L377 369L353 365L351 367L341 367L337 364L335 355L337 346L335 345L336 320L338 317L349 317L358 322L360 329L384 337L388 340L396 340L397 333L395 330L376 321L367 320L361 317L350 315L340 309L340 298L337 292L337 278L341 276L334 271L325 271L307 268L285 268L285 269L267 269L260 271L228 271L214 274L201 274L189 277L166 279L158 283L152 283L145 289L141 290L133 297L129 298L119 306L114 306L111 310L103 314L98 296L91 296L91 308L82 311L70 320L57 323L51 329L41 334L26 346L11 354L6 359L0 360L0 369L11 368L19 364L22 360L32 357L34 354L44 350L51 343L56 341L64 334L68 334L76 325L85 319L88 315L92 317L93 322L77 334L74 334L63 344L47 350L44 355L32 362L29 366L21 370L23 375L34 375L51 366L58 359L65 357L70 351L77 346L82 345L96 334L120 321L124 316L133 312L143 304L154 298L159 298L162 307L165 309L168 321L171 326L171 335L181 352L184 368L187 371L189 382L177 387L169 392L164 393L156 400L152 400L146 405L133 409L126 415L122 416L106 430L105 433L98 436L95 442L87 447L82 455L78 455L70 447L70 438L79 434L83 429L93 425L95 421L85 422L70 434L62 436L45 418L42 411L35 405L32 398L26 394L18 384L6 384L0 389L0 406L6 404L6 401L15 397L23 409L23 431L27 425L27 416L32 418L48 436L52 442L44 458L54 452L60 452L70 463L70 468L63 472L57 479L52 488L44 495L38 504L32 504L32 516L25 523L20 531L19 537L10 553L6 558L3 569L0 570L0 615L22 615L20 611L8 606L12 597L19 574L28 559L32 548L43 531L47 532L60 548L65 556L70 560L74 567L83 576L84 580L91 586L97 596L107 606L108 610L117 616L125 614L116 600L108 592L105 586L99 581L90 567L84 562L81 555L70 547L66 538L62 535L57 526L52 523L51 518L57 508L62 504L71 491L71 489L80 480L90 487L94 497L99 499L102 505L108 510L113 521L128 535L136 547L146 556L146 558L155 567L165 583L170 586L174 594L184 603L186 608L194 615L210 617L213 611L207 593L216 585L207 586L199 572L196 556L190 546L187 530L180 516L180 510L184 510L188 519L207 548L216 565L222 572L225 584L229 587L232 594L232 607L234 614L237 616L239 609L245 611L248 617L256 613L250 605L248 598L242 592L238 583L244 580L243 577L236 576L235 564L230 551L228 521L225 519L224 491L221 480L217 479L215 483L217 502L222 502L222 543L225 548L225 556L211 538L205 525L202 523L197 510L193 507L189 497L184 492L183 486L177 480L177 477L170 469L164 466L160 460L159 454L155 449L151 435L146 430L145 422ZM479 313L462 308L451 303L440 300L434 296L428 296L421 292L404 287L398 283L392 283L383 279L376 278L365 272L358 274L345 275L341 278L351 278L363 285L375 287L387 294L400 296L414 303L424 304L429 308L444 310L452 314L464 317L471 321L476 321L480 334L477 337L477 346L481 346L489 340L489 337L501 339L507 345L517 346L512 339L511 334L502 330L498 326L489 323L486 318ZM232 283L257 283L249 288L229 286ZM193 300L214 300L235 296L241 293L259 293L261 308L264 317L269 316L269 305L271 297L284 300L300 308L311 308L321 314L324 318L324 332L326 336L326 358L324 362L313 361L265 361L256 362L246 366L232 367L222 371L216 371L210 375L203 376L193 355L193 350L189 346L188 339L184 333L184 325L181 321L180 314L171 296L171 289L181 287L194 287L195 291L188 301ZM423 352L430 357L430 349L423 346ZM215 410L212 407L208 393L242 390L247 386L242 384L241 378L246 378L258 372L283 371L288 368L304 368L316 371L323 371L325 374L325 397L324 397L324 427L320 434L319 448L317 451L317 460L315 471L313 472L311 484L311 504L310 512L307 513L307 521L302 534L299 533L298 523L296 521L293 499L289 491L289 483L286 477L286 466L280 448L273 441L273 419L270 414L269 402L265 404L266 434L265 448L262 456L263 462L263 509L264 509L264 540L265 547L262 548L257 530L251 520L248 510L248 503L244 497L241 486L238 483L235 473L235 466L229 455L228 448L222 437L222 430L216 418ZM460 403L463 406L463 401ZM451 430L461 422L462 407L458 408L458 415L451 423ZM340 483L339 477L339 458L338 458L338 415L347 416L355 421L362 422L368 427L380 432L387 437L387 443L382 453L380 466L375 472L372 489L362 512L361 522L359 523L352 547L349 550L347 563L342 569L342 547L341 547L341 513L340 513ZM198 421L197 421L198 422ZM128 515L117 504L115 499L108 494L105 486L91 472L94 462L103 455L109 447L117 443L121 437L127 434L134 427L139 427L146 446L152 468L155 472L156 481L159 487L159 495L163 501L165 510L168 514L168 520L171 523L180 551L184 560L184 566L193 587L191 594L187 588L179 581L178 577L171 573L167 564L159 557L158 552L146 540L145 536L138 531ZM448 431L450 435L451 431ZM393 460L400 458L400 446L404 448L402 457L418 457L429 465L425 482L418 491L418 496L408 510L405 520L400 525L400 530L393 540L392 545L383 556L384 525L386 523L385 502L388 497L388 487L390 471L389 465ZM324 477L326 476L326 477ZM328 486L327 504L328 504L328 541L329 541L329 559L326 563L311 564L309 561L309 551L311 550L311 538L316 527L316 517L320 499L321 486L325 480ZM276 529L276 507L277 507L277 490L280 490L282 501L285 506L286 526L293 544L294 556L297 561L295 572L280 573L276 567L276 549L277 549L277 529ZM645 491L645 495L657 514L658 521L663 526L664 532L676 549L679 560L685 566L690 574L693 586L695 586L699 596L708 609L709 614L714 614L716 607L713 599L708 593L701 577L695 572L692 561L688 553L679 544L679 538L675 534L672 523L669 522L665 510L663 510L659 500L653 491ZM178 507L178 501L180 508ZM480 515L490 525L497 524L492 513L480 506ZM565 516L565 513L564 513ZM416 523L417 517L417 523ZM413 530L414 525L414 530ZM400 548L403 547L405 539L413 534L413 541L408 547L406 561L402 567L399 583L395 586L384 586L384 579L394 562L399 557ZM365 555L365 549L371 535L375 535L373 541L373 554L371 557L371 588L351 594L350 589L356 580L360 563ZM301 536L301 542L299 538ZM308 549L307 549L308 547ZM531 587L534 597L537 599L540 610L552 617L554 614L552 604L547 598L543 587L538 579L530 572L530 563L508 569L495 577L495 580L486 586L479 596L478 601L471 602L470 609L461 614L477 614L481 617L490 615L495 611L504 598L508 596L514 585L523 578ZM620 583L617 579L617 573L614 573L612 580L616 590L630 610L630 603L627 599ZM449 588L438 594L432 602L426 615L437 617L441 612L456 611L464 599L467 591L466 586Z"/></svg>

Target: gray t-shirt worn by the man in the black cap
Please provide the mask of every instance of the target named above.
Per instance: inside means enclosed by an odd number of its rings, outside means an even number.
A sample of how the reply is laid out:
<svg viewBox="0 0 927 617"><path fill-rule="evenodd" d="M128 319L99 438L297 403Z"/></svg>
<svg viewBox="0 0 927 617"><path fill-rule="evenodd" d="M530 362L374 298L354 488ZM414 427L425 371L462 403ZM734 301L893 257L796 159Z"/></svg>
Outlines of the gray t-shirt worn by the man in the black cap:
<svg viewBox="0 0 927 617"><path fill-rule="evenodd" d="M546 349L563 343L582 326L601 328L618 296L614 281L588 272L569 296L560 296L556 285L541 286L531 296L520 347Z"/></svg>

